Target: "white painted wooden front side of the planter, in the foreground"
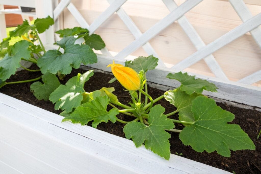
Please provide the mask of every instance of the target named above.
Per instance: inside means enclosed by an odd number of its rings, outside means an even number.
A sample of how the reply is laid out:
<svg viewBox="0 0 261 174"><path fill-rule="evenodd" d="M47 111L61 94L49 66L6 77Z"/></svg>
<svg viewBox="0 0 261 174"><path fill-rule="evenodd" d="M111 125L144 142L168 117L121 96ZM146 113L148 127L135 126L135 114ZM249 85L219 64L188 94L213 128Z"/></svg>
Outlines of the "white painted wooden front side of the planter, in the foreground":
<svg viewBox="0 0 261 174"><path fill-rule="evenodd" d="M229 173L174 154L167 161L2 93L0 110L0 168L8 173Z"/></svg>

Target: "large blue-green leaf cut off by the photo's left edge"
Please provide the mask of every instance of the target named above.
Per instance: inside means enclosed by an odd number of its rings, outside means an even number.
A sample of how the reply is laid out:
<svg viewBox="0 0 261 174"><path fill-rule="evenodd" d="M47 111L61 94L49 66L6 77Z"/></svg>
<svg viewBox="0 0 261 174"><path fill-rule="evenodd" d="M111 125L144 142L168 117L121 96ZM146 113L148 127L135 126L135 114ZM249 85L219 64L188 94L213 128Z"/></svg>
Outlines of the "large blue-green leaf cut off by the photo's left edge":
<svg viewBox="0 0 261 174"><path fill-rule="evenodd" d="M21 40L13 45L11 48L11 55L6 54L3 59L0 60L0 79L5 81L9 79L11 75L15 74L17 68L19 68L21 58L28 60L30 51L28 49L30 42Z"/></svg>

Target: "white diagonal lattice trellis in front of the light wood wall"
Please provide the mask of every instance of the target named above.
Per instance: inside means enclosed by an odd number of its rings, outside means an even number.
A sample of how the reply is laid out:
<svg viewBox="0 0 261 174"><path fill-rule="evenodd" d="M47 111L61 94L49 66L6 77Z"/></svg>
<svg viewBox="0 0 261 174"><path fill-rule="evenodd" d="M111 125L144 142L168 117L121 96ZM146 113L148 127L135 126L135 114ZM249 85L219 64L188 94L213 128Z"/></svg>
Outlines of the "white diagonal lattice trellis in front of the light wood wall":
<svg viewBox="0 0 261 174"><path fill-rule="evenodd" d="M113 15L116 12L117 15L120 17L120 19L127 26L129 31L133 34L135 40L127 47L125 47L123 50L118 52L118 54L114 57L106 48L102 50L103 55L99 55L99 57L103 57L109 60L115 59L115 61L124 62L127 56L131 55L131 53L133 53L135 50L139 49L140 47L143 47L143 49L146 51L147 54L149 55L153 54L155 57L159 58L159 65L157 67L158 70L171 71L171 72L182 71L188 68L189 66L197 63L199 60L204 59L205 63L208 65L208 67L216 77L213 78L213 77L207 77L202 75L198 75L198 77L209 79L210 81L213 81L216 84L220 84L221 91L224 90L222 87L227 85L228 86L232 85L234 86L234 89L238 90L239 94L236 97L236 99L235 97L232 97L232 99L223 97L224 99L240 102L241 101L240 98L242 98L245 95L242 93L242 91L245 91L247 89L252 92L254 91L253 94L257 96L257 99L254 99L254 103L257 103L258 101L259 103L261 103L261 96L260 96L261 89L258 87L249 86L261 80L261 70L247 77L244 77L238 82L232 82L228 80L227 76L225 75L222 68L216 61L215 57L212 55L213 52L229 44L233 40L241 37L247 32L251 33L252 37L254 38L258 46L261 48L261 28L259 27L259 25L261 25L261 13L253 17L250 11L248 10L248 8L246 7L243 0L229 0L230 4L232 5L232 7L234 8L234 10L236 11L236 13L238 14L238 16L240 17L243 23L207 45L205 45L203 40L200 38L199 34L194 29L194 27L184 16L184 14L186 14L189 10L191 10L193 7L198 5L203 0L187 0L180 6L178 6L173 0L162 0L165 6L170 11L169 15L165 16L162 20L157 22L154 26L152 26L144 33L141 33L139 28L135 25L135 23L128 16L128 14L121 8L121 6L125 2L127 2L127 0L118 0L118 1L107 0L107 1L109 2L110 6L105 11L103 11L103 13L100 14L97 17L97 19L91 23L91 25L89 25L86 22L84 17L80 14L78 9L74 6L74 4L70 0L62 0L54 9L53 14L49 14L49 15L53 15L54 19L57 20L59 15L62 13L62 11L65 8L67 8L70 11L70 13L72 13L72 15L75 17L76 21L80 24L80 26L89 29L90 34L92 34L111 15ZM188 38L191 40L191 42L193 43L197 51L192 55L188 56L187 58L183 59L179 63L173 65L173 67L167 68L164 62L162 61L161 57L159 57L159 55L156 53L156 51L153 49L153 47L150 45L148 41L175 21L177 21L181 26L181 28L185 31L185 33L187 34ZM52 37L54 37L54 35L52 35ZM219 95L217 95L216 97L219 97ZM242 103L261 107L261 104L253 104L252 101L245 102L243 100Z"/></svg>

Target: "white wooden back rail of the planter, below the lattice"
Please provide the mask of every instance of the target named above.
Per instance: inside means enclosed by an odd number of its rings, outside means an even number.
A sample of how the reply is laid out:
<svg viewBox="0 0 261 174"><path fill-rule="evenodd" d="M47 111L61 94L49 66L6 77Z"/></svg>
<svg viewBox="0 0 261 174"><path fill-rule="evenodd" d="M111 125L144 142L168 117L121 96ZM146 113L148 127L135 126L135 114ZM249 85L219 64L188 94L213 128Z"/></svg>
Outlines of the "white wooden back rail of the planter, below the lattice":
<svg viewBox="0 0 261 174"><path fill-rule="evenodd" d="M116 63L123 64L123 60L116 60ZM97 68L103 71L110 71L110 69L106 68L108 64L111 63L111 59L104 57L102 55L98 55L98 63L88 65L89 67ZM177 71L174 71L174 73ZM176 80L167 79L166 76L169 73L173 73L173 70L169 68L165 69L156 69L147 72L147 81L169 86L176 88L180 86L180 83ZM232 81L223 81L221 79L217 79L215 77L208 77L193 73L188 73L189 75L197 75L198 78L207 80L211 83L214 83L218 87L218 92L204 92L205 95L209 95L211 97L216 97L224 100L234 101L237 103L246 104L249 106L257 106L261 108L261 88L251 85L246 85L238 82ZM247 94L247 95L246 95Z"/></svg>

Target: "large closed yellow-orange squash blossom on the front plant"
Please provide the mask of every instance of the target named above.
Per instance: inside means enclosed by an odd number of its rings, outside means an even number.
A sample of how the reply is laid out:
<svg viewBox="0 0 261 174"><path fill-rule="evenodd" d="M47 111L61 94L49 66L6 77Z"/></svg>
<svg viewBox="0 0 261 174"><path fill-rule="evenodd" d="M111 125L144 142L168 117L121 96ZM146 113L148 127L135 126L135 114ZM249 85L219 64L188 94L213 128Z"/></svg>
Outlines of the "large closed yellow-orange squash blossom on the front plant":
<svg viewBox="0 0 261 174"><path fill-rule="evenodd" d="M112 74L128 90L140 89L140 77L135 70L129 67L124 67L121 64L116 64L114 61L107 66L111 67Z"/></svg>

